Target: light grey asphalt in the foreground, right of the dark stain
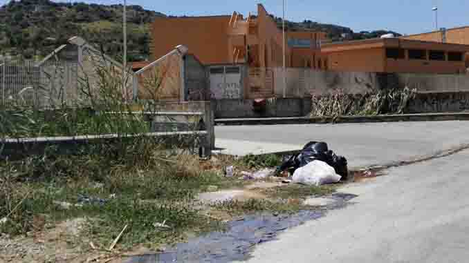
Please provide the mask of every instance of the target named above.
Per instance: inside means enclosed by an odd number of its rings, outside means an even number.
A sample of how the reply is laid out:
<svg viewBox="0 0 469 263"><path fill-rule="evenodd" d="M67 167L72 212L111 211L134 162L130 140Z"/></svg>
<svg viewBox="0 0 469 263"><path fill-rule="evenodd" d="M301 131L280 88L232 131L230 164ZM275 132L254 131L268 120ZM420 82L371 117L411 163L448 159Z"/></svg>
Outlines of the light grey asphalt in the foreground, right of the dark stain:
<svg viewBox="0 0 469 263"><path fill-rule="evenodd" d="M248 262L468 262L468 159L463 151L351 184L341 191L358 195L353 204L260 244Z"/></svg>

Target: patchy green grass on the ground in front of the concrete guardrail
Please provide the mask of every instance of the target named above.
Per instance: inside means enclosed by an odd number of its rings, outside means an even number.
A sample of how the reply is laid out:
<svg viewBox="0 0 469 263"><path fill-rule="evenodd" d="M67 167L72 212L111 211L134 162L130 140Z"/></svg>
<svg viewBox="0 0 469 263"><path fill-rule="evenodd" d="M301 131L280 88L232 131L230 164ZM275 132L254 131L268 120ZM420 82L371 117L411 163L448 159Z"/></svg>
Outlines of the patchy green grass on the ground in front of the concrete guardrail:
<svg viewBox="0 0 469 263"><path fill-rule="evenodd" d="M235 181L201 171L197 167L199 160L192 156L165 157L172 161L170 165L158 161L146 168L123 163L103 166L101 162L80 165L85 159L92 158L76 157L68 162L70 166L61 164L64 160L50 160L54 164L42 164L48 169L42 173L26 171L27 167L37 169L37 165L26 167L24 162L3 162L0 166L3 171L8 168L18 173L0 181L0 218L8 215L8 222L0 226L0 232L24 235L34 228L33 215L43 214L47 215L49 224L76 217L89 218L87 238L100 244L113 240L128 224L129 231L120 244L123 249L134 244L156 246L177 242L183 240L186 231L203 232L217 225L194 208L192 200L196 193L209 186L229 186ZM95 173L97 168L102 169L101 173ZM15 191L9 192L12 189ZM77 204L79 195L107 199L107 202L69 209L58 204ZM111 195L115 198L110 198ZM12 211L16 204L19 207ZM154 226L165 220L171 226L169 230Z"/></svg>

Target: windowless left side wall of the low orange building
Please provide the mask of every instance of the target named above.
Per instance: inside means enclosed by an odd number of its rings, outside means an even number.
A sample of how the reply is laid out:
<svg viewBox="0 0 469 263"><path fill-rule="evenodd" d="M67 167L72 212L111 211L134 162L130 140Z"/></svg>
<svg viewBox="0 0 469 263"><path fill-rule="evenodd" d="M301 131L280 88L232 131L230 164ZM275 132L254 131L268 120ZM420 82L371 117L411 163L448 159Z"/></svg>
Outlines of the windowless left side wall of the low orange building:
<svg viewBox="0 0 469 263"><path fill-rule="evenodd" d="M329 70L384 72L385 52L383 48L343 50L327 55Z"/></svg>

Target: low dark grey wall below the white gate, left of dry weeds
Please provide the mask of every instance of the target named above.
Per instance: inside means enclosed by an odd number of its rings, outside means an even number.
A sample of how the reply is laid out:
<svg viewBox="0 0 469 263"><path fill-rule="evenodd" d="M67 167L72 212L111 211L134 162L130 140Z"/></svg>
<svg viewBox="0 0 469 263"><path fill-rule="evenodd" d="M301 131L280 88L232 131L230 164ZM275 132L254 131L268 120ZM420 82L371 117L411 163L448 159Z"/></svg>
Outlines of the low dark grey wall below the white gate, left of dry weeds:
<svg viewBox="0 0 469 263"><path fill-rule="evenodd" d="M261 110L255 110L254 99L219 99L213 101L215 118L302 117L311 112L311 98L266 99Z"/></svg>

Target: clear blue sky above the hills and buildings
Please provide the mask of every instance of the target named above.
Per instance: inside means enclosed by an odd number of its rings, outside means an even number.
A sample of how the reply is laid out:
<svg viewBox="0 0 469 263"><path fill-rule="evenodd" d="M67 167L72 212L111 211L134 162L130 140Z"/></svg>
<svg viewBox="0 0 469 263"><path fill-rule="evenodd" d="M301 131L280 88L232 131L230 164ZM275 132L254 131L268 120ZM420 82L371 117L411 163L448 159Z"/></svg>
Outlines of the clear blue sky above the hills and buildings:
<svg viewBox="0 0 469 263"><path fill-rule="evenodd" d="M111 4L122 0L85 2ZM268 12L282 17L282 0L127 0L129 5L172 15L231 14L235 10L248 14L256 11L256 3L264 4ZM414 34L434 30L432 7L435 5L439 7L439 27L469 26L469 0L286 0L286 13L292 21L335 23L356 32L387 29Z"/></svg>

